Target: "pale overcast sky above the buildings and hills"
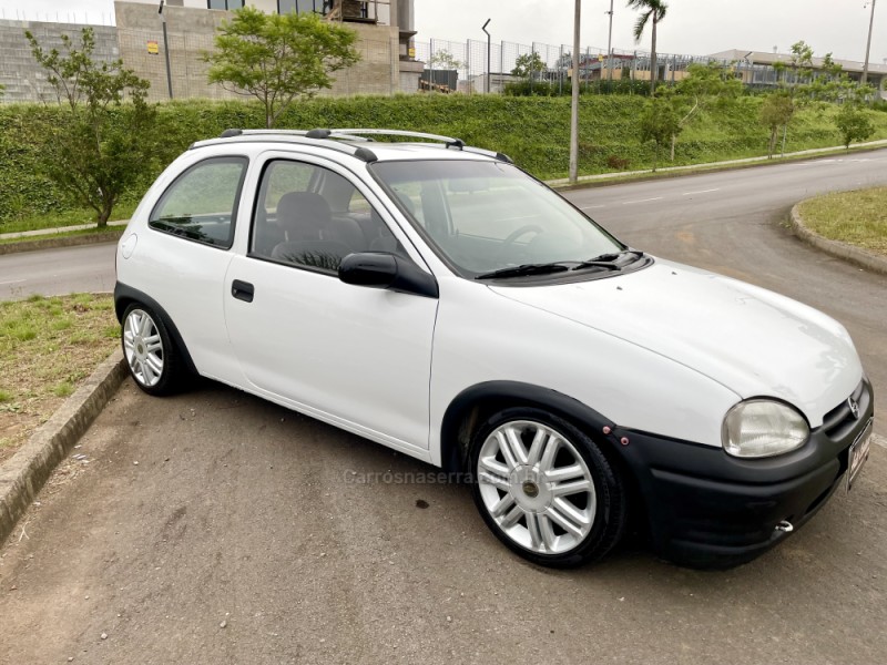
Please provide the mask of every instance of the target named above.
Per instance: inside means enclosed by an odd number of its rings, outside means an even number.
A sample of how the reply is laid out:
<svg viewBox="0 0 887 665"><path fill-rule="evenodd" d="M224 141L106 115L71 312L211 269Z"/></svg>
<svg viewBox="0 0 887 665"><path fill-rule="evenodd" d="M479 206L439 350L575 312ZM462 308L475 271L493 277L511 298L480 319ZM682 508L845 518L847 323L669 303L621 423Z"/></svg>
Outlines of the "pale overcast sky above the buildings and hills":
<svg viewBox="0 0 887 665"><path fill-rule="evenodd" d="M865 59L871 0L666 0L669 11L659 27L657 50L664 53L706 55L728 49L785 53L798 40L817 55ZM248 0L247 0L248 2ZM870 61L887 59L887 2L876 9ZM864 7L865 6L865 7ZM581 41L606 50L610 0L582 0ZM417 41L500 40L551 45L572 42L574 0L415 0ZM60 18L74 12L78 21L110 23L112 0L0 0L0 18L22 14L31 20ZM649 28L635 45L632 28L636 13L625 0L613 3L613 48L649 49ZM436 47L437 48L437 47Z"/></svg>

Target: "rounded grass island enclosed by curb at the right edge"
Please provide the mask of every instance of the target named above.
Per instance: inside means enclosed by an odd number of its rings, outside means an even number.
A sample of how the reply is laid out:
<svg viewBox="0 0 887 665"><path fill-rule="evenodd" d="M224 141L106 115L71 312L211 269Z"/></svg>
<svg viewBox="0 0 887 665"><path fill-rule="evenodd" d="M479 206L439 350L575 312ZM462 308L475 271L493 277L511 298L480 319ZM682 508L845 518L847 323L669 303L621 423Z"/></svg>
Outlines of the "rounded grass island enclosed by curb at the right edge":
<svg viewBox="0 0 887 665"><path fill-rule="evenodd" d="M799 209L804 224L823 237L887 256L887 187L817 196Z"/></svg>

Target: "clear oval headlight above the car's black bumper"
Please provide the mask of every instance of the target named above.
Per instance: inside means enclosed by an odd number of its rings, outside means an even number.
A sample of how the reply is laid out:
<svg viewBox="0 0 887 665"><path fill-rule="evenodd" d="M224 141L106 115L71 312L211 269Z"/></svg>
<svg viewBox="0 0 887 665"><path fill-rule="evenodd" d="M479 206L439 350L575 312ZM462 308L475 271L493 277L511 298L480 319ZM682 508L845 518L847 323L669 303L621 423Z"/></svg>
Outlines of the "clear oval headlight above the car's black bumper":
<svg viewBox="0 0 887 665"><path fill-rule="evenodd" d="M810 428L792 407L766 399L740 402L724 418L724 450L734 457L762 458L801 448Z"/></svg>

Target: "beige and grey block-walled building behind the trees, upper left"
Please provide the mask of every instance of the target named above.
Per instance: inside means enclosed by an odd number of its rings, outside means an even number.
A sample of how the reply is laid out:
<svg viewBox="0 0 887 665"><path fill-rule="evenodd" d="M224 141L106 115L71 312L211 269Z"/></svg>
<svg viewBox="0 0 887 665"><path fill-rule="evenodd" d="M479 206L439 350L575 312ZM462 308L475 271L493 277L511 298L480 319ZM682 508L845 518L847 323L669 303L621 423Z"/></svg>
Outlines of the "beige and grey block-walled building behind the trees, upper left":
<svg viewBox="0 0 887 665"><path fill-rule="evenodd" d="M414 0L248 0L266 12L317 12L330 21L343 21L358 34L360 61L336 72L327 95L416 92L422 62L415 60L412 39ZM149 99L161 101L204 98L233 99L235 93L206 81L203 54L212 51L216 28L244 0L166 0L162 13L159 0L118 0L116 28L93 27L96 59L121 58L124 66L151 82ZM164 33L165 22L165 33ZM24 30L34 32L41 44L60 48L61 33L77 34L83 25L31 21L0 21L0 84L4 102L53 99L45 73L34 63ZM170 74L166 71L169 49Z"/></svg>

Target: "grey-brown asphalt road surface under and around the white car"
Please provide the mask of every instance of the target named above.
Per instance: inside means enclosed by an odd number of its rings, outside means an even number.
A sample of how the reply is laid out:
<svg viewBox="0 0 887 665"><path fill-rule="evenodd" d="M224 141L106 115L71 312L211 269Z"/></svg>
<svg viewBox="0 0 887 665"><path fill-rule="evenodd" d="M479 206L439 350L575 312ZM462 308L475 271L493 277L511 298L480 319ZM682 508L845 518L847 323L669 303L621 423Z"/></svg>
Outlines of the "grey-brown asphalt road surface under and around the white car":
<svg viewBox="0 0 887 665"><path fill-rule="evenodd" d="M571 197L635 246L836 316L884 390L887 278L781 226L799 198L884 182L883 151ZM879 446L853 492L720 573L660 562L642 543L577 571L529 565L488 533L467 488L418 482L434 469L214 383L161 400L128 381L75 453L85 459L63 464L0 549L0 663L874 665L887 654Z"/></svg>

